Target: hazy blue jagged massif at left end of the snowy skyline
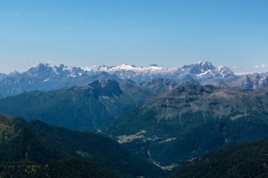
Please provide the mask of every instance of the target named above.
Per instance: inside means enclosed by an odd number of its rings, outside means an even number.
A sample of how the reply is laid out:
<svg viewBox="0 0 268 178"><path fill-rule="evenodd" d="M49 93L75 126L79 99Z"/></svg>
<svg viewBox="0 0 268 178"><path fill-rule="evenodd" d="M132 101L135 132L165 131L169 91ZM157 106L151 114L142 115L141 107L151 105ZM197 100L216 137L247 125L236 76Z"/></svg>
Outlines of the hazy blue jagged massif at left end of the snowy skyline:
<svg viewBox="0 0 268 178"><path fill-rule="evenodd" d="M0 94L2 96L13 96L25 91L50 91L72 86L74 84L87 84L95 80L106 78L118 79L116 76L106 72L89 75L88 71L79 67L67 67L65 65L51 66L40 63L35 68L26 72L16 72L8 75L0 81Z"/></svg>

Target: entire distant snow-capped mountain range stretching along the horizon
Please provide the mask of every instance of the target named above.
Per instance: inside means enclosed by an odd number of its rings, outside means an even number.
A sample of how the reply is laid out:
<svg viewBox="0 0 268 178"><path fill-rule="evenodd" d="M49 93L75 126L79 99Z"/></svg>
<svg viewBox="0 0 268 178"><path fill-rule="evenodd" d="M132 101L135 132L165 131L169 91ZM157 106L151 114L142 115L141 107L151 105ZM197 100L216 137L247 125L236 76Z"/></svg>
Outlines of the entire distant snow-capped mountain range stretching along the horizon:
<svg viewBox="0 0 268 178"><path fill-rule="evenodd" d="M113 78L118 82L124 79L138 84L163 78L175 80L179 84L196 79L201 84L214 84L223 87L243 87L260 89L268 84L268 73L235 75L225 66L214 67L212 63L200 61L182 68L162 68L157 65L137 68L134 65L99 66L95 70L80 67L40 63L26 72L13 72L0 75L0 94L4 97L21 94L25 91L49 91L75 84L87 84L95 80Z"/></svg>

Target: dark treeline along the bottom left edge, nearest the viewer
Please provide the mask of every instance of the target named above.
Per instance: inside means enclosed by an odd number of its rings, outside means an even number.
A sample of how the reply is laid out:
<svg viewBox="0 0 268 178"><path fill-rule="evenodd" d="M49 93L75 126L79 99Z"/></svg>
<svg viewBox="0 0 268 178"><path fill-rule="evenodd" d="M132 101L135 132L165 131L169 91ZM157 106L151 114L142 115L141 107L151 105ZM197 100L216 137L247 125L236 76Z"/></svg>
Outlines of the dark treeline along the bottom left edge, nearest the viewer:
<svg viewBox="0 0 268 178"><path fill-rule="evenodd" d="M68 159L47 164L0 163L0 177L20 178L116 178L114 173L85 160Z"/></svg>

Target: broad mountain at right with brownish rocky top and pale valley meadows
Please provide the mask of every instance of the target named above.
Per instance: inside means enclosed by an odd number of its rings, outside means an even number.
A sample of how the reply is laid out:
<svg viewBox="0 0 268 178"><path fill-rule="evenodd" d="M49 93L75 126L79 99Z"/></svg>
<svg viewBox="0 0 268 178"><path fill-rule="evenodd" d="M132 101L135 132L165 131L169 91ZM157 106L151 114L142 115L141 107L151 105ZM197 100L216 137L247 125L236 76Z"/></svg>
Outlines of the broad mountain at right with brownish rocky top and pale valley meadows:
<svg viewBox="0 0 268 178"><path fill-rule="evenodd" d="M103 133L169 169L222 146L268 136L268 90L201 86L196 81L152 96Z"/></svg>

